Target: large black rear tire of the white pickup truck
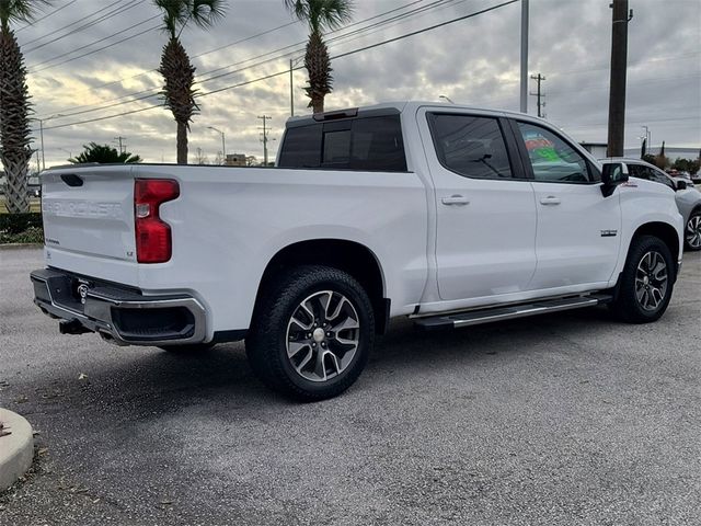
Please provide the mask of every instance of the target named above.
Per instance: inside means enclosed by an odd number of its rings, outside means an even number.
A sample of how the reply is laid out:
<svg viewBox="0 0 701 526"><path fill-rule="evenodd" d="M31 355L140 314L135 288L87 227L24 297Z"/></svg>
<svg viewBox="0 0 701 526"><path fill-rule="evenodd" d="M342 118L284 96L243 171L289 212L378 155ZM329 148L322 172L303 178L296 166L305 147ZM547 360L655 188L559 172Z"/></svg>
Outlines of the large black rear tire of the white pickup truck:
<svg viewBox="0 0 701 526"><path fill-rule="evenodd" d="M332 318L326 319L327 313L323 313L323 305L317 301L326 293L332 295L329 296L325 310L331 307L333 298L336 298L335 306L341 305L343 298L352 307L343 304L344 309L350 312L347 315L348 320L357 318L355 321L358 327L341 328L327 340L325 335L332 333L324 333L324 329L320 336L324 340L317 343L317 331L321 327L313 329L314 336L309 338L311 332L304 333L311 329L300 330L301 325L294 321L294 317L300 316L303 302L311 307L313 317L310 316L302 321L309 322L310 325L314 320L320 325L326 323L331 330ZM342 332L346 335L352 334L353 340L357 340L355 346L342 343L348 341L341 339ZM300 334L301 338L297 340ZM363 286L353 276L337 268L304 265L285 272L264 287L245 340L245 351L253 371L263 384L286 397L313 402L335 397L357 380L368 362L374 340L372 306ZM288 357L288 345L294 344L297 344L300 351ZM311 345L314 345L313 350ZM321 348L322 345L324 350ZM354 347L352 354L347 351L350 347ZM344 359L346 364L343 364ZM312 362L317 364L318 370L323 371L323 378L318 375L321 379L309 379L314 373L306 370L304 367L310 367ZM301 365L302 363L307 365ZM340 363L343 365L342 370ZM296 367L299 367L299 370Z"/></svg>

